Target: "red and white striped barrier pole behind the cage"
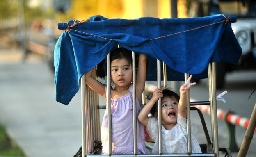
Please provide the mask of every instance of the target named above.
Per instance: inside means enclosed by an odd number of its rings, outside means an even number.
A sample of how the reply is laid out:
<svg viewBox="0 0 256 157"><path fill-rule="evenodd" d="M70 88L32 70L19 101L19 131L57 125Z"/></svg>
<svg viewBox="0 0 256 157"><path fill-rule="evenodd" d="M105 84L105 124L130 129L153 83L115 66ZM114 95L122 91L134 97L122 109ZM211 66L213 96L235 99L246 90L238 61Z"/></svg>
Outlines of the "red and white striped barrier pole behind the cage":
<svg viewBox="0 0 256 157"><path fill-rule="evenodd" d="M197 107L198 109L200 109L200 111L210 115L210 105L197 105L197 106L193 106L193 107ZM217 117L219 119L224 120L225 113L226 113L226 111L224 111L223 109L217 109ZM237 114L229 113L226 116L226 121L233 125L238 125L240 127L244 127L245 129L247 129L250 119L239 116ZM256 132L256 128L255 128L254 132Z"/></svg>

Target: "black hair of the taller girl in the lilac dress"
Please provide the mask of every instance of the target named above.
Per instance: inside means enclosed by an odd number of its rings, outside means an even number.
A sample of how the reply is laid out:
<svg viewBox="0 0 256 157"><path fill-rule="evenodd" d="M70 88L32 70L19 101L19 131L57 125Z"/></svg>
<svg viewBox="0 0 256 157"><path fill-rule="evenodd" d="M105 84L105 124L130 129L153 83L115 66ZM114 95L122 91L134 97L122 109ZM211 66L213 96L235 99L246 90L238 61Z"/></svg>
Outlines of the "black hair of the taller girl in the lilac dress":
<svg viewBox="0 0 256 157"><path fill-rule="evenodd" d="M112 52L110 52L110 64L115 59L126 59L128 64L132 64L133 62L132 52L125 48L116 48ZM101 61L97 65L97 69L96 69L96 76L102 79L104 79L107 76L104 69L104 65L103 65L104 63L105 63L105 59L103 59L103 61ZM137 66L137 59L136 59L136 66Z"/></svg>

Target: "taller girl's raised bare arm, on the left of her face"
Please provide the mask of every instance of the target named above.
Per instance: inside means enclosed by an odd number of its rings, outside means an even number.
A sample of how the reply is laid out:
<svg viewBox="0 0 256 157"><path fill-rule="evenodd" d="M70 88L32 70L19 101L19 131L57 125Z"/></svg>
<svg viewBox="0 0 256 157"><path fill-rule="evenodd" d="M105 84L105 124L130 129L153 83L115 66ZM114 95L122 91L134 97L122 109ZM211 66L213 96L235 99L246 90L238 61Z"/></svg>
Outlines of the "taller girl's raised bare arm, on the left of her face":
<svg viewBox="0 0 256 157"><path fill-rule="evenodd" d="M92 77L93 68L85 74L85 83L106 99L105 84Z"/></svg>

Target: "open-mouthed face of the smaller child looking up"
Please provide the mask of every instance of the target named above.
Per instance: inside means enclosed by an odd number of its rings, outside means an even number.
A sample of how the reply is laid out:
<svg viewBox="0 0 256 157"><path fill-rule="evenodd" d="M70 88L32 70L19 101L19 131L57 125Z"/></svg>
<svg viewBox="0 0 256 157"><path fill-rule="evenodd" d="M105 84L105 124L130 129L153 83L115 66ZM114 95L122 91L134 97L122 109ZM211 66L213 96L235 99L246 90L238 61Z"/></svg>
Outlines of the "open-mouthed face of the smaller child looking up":
<svg viewBox="0 0 256 157"><path fill-rule="evenodd" d="M177 123L178 100L174 97L166 96L162 98L162 125L169 130Z"/></svg>

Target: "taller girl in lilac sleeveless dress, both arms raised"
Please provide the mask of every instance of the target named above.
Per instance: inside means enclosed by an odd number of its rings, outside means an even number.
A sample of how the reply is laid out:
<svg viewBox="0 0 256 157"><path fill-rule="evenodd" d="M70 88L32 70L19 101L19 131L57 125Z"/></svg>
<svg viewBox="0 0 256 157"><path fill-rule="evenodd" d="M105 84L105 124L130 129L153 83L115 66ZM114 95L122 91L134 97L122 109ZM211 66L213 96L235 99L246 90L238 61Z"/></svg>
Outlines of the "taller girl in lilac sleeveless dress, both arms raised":
<svg viewBox="0 0 256 157"><path fill-rule="evenodd" d="M146 60L147 55L139 55L136 75L137 114L141 111L140 104L146 80ZM110 79L115 85L110 89L112 154L133 154L132 52L123 48L110 52L110 71ZM101 64L98 65L97 75L105 77ZM101 94L105 101L107 100L107 86L92 77L92 70L85 74L85 82L91 89ZM101 126L102 154L109 154L107 112L106 109ZM137 120L137 154L147 153L144 140L144 126Z"/></svg>

